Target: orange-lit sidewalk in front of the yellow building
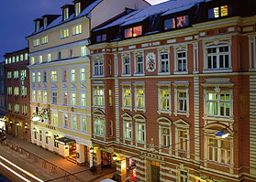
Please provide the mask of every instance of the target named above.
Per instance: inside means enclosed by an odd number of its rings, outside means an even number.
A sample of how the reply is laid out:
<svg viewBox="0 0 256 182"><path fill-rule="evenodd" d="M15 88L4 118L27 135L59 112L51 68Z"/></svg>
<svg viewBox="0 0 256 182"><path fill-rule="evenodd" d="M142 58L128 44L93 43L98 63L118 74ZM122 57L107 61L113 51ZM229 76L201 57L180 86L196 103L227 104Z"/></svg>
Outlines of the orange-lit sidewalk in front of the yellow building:
<svg viewBox="0 0 256 182"><path fill-rule="evenodd" d="M39 156L39 158L42 158L43 160L60 167L62 170L67 171L69 173L76 173L79 171L87 170L82 173L76 174L75 177L78 177L82 179L82 181L90 181L90 182L96 182L103 180L105 178L113 177L115 172L111 170L106 170L103 174L100 175L93 175L91 171L89 171L89 167L87 166L77 166L73 164L72 162L62 158L59 155L55 155L54 153L47 151L44 148L39 147L38 145L30 144L28 142L25 142L17 137L13 137L9 134L6 134L6 141L9 141L10 143L13 143L14 145L19 146L20 148L24 149L25 151L28 151L32 155ZM56 176L57 177L57 176ZM58 176L59 177L59 176Z"/></svg>

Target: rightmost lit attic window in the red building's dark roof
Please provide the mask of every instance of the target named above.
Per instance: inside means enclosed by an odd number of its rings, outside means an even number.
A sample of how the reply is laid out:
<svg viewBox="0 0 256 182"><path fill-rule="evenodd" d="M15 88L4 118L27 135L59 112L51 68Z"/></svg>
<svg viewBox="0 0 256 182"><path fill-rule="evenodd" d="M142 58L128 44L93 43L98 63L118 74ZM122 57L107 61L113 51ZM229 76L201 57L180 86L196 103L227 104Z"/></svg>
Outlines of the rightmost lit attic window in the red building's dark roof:
<svg viewBox="0 0 256 182"><path fill-rule="evenodd" d="M208 9L208 19L228 16L231 14L231 6L229 5L221 5L214 8Z"/></svg>

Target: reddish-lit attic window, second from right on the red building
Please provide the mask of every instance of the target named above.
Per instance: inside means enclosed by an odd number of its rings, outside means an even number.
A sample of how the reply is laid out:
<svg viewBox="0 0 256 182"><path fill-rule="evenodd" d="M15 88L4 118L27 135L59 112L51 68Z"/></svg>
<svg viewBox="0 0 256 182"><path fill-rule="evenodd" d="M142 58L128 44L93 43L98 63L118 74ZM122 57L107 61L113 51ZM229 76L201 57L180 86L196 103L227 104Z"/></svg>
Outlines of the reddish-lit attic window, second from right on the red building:
<svg viewBox="0 0 256 182"><path fill-rule="evenodd" d="M177 16L164 20L164 29L173 29L177 27L189 26L188 16Z"/></svg>

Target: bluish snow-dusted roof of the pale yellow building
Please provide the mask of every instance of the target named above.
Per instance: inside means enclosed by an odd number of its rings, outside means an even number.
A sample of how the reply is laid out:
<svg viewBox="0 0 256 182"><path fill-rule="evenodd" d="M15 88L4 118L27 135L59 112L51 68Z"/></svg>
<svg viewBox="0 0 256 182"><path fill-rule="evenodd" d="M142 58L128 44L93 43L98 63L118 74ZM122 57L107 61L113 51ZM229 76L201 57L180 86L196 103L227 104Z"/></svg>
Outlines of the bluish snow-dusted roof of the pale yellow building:
<svg viewBox="0 0 256 182"><path fill-rule="evenodd" d="M28 37L30 36L33 36L33 35L36 35L36 34L39 34L40 32L42 31L45 31L47 29L50 29L51 27L56 27L56 26L59 26L63 23L66 23L66 22L69 22L69 21L72 21L73 19L76 19L76 18L79 18L81 16L90 16L89 14L91 13L91 11L95 8L96 5L98 5L99 3L101 3L102 1L104 0L95 0L95 2L93 2L92 4L86 6L83 11L81 12L81 14L79 16L74 16L74 13L69 16L68 19L66 19L65 21L63 21L62 19L62 16L59 16L57 17L56 19L54 19L48 26L47 28L43 28L43 27L40 27L39 28L39 31L37 32L33 32L31 35L29 35ZM39 19L39 18L38 18Z"/></svg>

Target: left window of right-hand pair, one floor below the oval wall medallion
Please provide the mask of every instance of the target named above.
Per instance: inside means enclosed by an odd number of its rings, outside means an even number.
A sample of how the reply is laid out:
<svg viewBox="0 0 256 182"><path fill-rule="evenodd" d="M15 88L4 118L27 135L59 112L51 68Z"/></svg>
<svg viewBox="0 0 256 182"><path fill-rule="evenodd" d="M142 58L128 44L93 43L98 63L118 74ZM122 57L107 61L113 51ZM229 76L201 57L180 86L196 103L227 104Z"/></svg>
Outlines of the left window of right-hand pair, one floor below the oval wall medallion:
<svg viewBox="0 0 256 182"><path fill-rule="evenodd" d="M171 113L171 88L159 87L159 113L170 112Z"/></svg>

